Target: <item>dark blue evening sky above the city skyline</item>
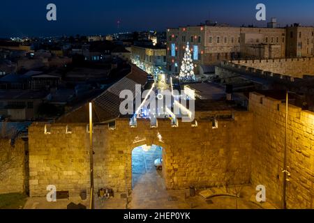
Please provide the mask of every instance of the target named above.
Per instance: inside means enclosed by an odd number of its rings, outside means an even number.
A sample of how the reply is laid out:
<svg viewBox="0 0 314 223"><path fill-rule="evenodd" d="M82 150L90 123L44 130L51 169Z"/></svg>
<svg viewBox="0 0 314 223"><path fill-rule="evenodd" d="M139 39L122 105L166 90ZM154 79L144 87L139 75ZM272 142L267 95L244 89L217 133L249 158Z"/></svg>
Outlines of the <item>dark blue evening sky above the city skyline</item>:
<svg viewBox="0 0 314 223"><path fill-rule="evenodd" d="M47 3L57 5L57 21L47 22ZM267 6L267 19L277 17L282 26L299 22L314 25L312 0L15 0L0 3L0 36L59 36L105 34L119 31L158 30L200 24L209 18L232 25L255 20L255 6Z"/></svg>

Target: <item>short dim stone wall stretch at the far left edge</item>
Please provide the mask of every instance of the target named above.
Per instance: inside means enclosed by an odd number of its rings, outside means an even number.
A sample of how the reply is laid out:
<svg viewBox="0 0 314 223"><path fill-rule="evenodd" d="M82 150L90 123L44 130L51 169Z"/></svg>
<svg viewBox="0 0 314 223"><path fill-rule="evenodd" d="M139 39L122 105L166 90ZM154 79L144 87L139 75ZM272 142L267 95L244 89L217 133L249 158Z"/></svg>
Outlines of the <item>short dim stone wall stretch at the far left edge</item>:
<svg viewBox="0 0 314 223"><path fill-rule="evenodd" d="M17 139L13 146L10 139L0 139L0 194L24 192L28 187L24 150L22 139Z"/></svg>

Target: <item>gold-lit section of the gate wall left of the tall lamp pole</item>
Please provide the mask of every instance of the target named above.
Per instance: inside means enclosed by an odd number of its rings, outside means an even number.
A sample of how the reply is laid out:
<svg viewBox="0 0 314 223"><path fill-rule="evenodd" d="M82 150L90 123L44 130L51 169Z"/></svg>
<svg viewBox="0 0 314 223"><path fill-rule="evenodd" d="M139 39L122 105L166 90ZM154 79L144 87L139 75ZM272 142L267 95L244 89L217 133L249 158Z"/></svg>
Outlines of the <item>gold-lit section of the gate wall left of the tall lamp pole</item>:
<svg viewBox="0 0 314 223"><path fill-rule="evenodd" d="M33 123L29 127L29 190L30 196L45 196L47 185L57 191L68 190L79 195L90 185L89 143L86 125L47 126ZM88 190L87 190L88 192Z"/></svg>

